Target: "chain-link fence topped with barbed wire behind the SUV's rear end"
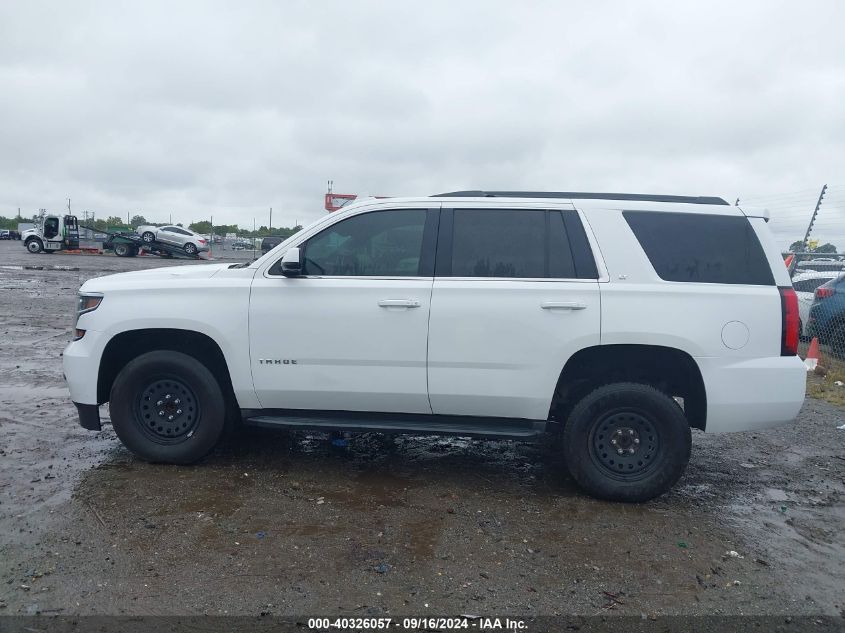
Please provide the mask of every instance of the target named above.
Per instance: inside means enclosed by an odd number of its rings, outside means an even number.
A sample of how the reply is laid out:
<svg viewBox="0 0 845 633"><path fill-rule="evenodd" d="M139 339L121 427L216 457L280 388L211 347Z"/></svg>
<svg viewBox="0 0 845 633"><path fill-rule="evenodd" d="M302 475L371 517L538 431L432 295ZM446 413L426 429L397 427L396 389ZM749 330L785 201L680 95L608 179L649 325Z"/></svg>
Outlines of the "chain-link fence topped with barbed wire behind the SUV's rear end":
<svg viewBox="0 0 845 633"><path fill-rule="evenodd" d="M799 354L815 341L825 365L845 370L845 186L748 196L739 204L769 210L798 295Z"/></svg>

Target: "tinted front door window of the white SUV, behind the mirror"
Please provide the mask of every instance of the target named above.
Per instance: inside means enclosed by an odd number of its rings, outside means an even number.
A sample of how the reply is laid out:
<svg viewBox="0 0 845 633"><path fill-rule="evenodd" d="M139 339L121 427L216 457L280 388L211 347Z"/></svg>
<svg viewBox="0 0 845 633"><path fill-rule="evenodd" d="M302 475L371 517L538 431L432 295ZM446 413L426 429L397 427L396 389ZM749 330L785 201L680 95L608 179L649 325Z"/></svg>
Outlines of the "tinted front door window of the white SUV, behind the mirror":
<svg viewBox="0 0 845 633"><path fill-rule="evenodd" d="M425 209L374 211L333 224L305 243L306 275L420 276Z"/></svg>

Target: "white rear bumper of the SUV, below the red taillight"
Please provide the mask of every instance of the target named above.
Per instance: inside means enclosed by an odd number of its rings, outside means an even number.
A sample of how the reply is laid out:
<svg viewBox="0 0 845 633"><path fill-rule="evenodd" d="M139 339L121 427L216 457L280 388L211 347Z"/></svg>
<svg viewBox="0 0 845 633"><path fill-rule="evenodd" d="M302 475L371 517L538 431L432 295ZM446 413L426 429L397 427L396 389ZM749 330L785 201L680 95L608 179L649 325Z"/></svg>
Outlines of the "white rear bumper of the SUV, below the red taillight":
<svg viewBox="0 0 845 633"><path fill-rule="evenodd" d="M787 424L804 404L807 370L797 356L695 361L707 391L708 433Z"/></svg>

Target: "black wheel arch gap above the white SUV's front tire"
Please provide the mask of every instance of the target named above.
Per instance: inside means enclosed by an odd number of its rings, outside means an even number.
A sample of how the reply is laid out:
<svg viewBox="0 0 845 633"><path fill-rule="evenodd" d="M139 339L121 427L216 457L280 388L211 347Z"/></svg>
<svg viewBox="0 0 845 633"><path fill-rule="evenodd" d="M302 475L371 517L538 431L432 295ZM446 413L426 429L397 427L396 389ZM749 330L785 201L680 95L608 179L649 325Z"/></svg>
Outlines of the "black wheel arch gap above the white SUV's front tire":
<svg viewBox="0 0 845 633"><path fill-rule="evenodd" d="M108 402L114 380L126 364L144 352L171 350L196 358L214 374L227 402L237 407L229 366L220 345L202 332L178 328L126 330L103 349L97 372L97 402Z"/></svg>

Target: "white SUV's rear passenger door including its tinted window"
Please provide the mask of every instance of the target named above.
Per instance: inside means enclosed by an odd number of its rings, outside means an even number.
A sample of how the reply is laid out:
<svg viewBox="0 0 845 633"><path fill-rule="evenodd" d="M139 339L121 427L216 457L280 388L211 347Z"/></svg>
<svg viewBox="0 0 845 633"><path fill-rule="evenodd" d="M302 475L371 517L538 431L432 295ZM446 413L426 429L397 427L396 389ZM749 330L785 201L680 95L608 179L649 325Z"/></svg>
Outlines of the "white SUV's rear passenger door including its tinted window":
<svg viewBox="0 0 845 633"><path fill-rule="evenodd" d="M598 273L572 208L441 212L432 412L545 420L569 357L599 344Z"/></svg>

